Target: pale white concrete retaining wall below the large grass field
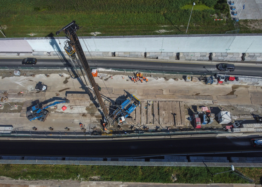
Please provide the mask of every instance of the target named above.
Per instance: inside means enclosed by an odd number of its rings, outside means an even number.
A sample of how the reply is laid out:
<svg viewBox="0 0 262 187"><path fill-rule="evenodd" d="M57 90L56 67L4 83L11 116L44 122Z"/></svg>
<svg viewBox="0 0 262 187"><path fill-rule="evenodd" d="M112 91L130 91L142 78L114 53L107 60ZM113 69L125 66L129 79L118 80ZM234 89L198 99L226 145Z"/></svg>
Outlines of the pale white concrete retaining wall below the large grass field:
<svg viewBox="0 0 262 187"><path fill-rule="evenodd" d="M121 52L261 53L262 34L101 36L80 38L83 50ZM59 44L59 40L61 46ZM1 52L62 51L65 37L1 38ZM85 44L84 44L85 42Z"/></svg>

